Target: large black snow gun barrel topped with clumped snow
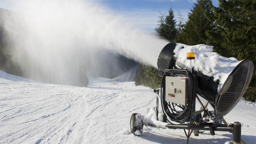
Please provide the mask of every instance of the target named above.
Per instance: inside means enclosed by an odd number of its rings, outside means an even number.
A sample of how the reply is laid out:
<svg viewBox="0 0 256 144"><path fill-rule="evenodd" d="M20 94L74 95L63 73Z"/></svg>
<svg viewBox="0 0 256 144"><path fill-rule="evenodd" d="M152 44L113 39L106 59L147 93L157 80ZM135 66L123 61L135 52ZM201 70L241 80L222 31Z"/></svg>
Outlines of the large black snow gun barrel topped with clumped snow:
<svg viewBox="0 0 256 144"><path fill-rule="evenodd" d="M234 106L236 106L248 88L253 74L253 63L251 60L237 61L235 58L222 57L214 52L204 50L200 51L200 46L202 45L187 46L177 42L168 43L162 49L158 57L157 66L159 69L159 76L162 77L166 69L191 69L190 67L192 66L189 66L187 61L185 61L184 58L183 60L181 58L184 57L184 55L187 53L183 53L181 56L179 51L186 50L186 48L191 50L193 49L196 52L195 60L192 60L195 64L194 67L192 67L192 74L197 77L197 94L210 102L210 104L214 107L215 114L218 117L223 117L229 113L234 108ZM222 77L216 78L214 76L209 76L204 71L204 69L202 70L198 67L196 68L196 64L203 65L204 68L208 65L205 61L200 62L200 60L202 60L200 59L200 56L208 58L208 61L210 61L211 64L214 62L214 60L211 60L211 57L207 56L209 53L213 53L218 55L218 57L225 59L224 61L221 58L217 58L217 61L219 62L218 67L220 67L222 71L219 72L219 75ZM235 59L236 63L230 62L230 59ZM223 65L219 65L221 62ZM209 73L214 74L214 72L216 71L212 70Z"/></svg>

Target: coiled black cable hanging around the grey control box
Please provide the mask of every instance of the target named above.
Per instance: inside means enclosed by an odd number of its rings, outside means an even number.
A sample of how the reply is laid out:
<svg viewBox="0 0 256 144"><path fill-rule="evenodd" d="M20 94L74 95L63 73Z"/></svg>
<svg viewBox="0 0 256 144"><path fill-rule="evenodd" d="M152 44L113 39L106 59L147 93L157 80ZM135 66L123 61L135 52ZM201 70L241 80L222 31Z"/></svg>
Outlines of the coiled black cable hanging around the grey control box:
<svg viewBox="0 0 256 144"><path fill-rule="evenodd" d="M188 104L186 105L177 105L177 103L170 103L165 101L165 77L166 76L187 76L190 80L189 84L189 95L188 95ZM193 122L192 116L193 116L193 111L195 110L195 99L196 99L196 94L197 94L197 79L196 76L194 76L191 72L185 70L185 69L168 69L165 70L163 77L162 77L162 82L161 82L161 106L163 110L163 114L166 118L166 120L172 124L172 125L181 125L184 124L185 122L189 121L189 130L191 128L191 124ZM177 110L175 107L179 107L182 110ZM174 124L170 120L170 118L174 122L178 122L179 124ZM190 119L190 120L189 120ZM189 135L188 135L189 139ZM187 143L188 143L187 139Z"/></svg>

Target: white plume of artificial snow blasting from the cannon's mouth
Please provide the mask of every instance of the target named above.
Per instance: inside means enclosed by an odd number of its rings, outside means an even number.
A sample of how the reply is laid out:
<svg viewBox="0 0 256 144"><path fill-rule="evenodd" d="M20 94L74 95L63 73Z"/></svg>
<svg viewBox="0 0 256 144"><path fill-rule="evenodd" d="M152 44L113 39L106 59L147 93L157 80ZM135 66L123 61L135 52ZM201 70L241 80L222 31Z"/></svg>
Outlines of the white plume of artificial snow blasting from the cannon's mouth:
<svg viewBox="0 0 256 144"><path fill-rule="evenodd" d="M12 6L23 15L20 24L7 26L14 61L34 80L80 85L88 72L109 71L103 67L113 60L106 53L157 68L169 43L95 1L14 0Z"/></svg>

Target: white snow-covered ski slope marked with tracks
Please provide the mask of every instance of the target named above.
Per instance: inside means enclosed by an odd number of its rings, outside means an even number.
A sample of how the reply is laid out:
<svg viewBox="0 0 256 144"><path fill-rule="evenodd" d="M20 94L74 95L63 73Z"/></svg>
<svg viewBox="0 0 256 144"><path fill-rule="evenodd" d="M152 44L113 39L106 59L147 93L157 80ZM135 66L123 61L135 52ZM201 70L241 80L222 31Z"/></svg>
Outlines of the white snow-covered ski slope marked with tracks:
<svg viewBox="0 0 256 144"><path fill-rule="evenodd" d="M0 71L0 143L181 143L183 130L148 127L142 135L129 130L132 113L147 114L155 94L134 82L91 80L88 87L45 84ZM198 105L198 104L197 104ZM256 103L241 100L227 114L241 122L245 143L256 143ZM226 143L229 132L209 131L189 143Z"/></svg>

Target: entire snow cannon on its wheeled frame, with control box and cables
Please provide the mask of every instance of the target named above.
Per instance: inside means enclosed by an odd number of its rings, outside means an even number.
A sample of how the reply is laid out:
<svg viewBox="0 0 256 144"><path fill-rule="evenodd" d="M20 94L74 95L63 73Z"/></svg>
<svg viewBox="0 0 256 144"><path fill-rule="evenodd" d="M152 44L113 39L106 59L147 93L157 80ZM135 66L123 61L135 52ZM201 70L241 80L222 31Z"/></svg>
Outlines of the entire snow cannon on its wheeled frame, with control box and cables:
<svg viewBox="0 0 256 144"><path fill-rule="evenodd" d="M145 125L184 129L187 143L192 132L199 136L206 130L211 135L216 131L230 132L233 143L243 142L241 123L227 124L223 116L236 106L248 88L253 62L220 56L212 48L204 44L188 46L170 42L162 49L157 61L161 89L154 89L156 106L148 108L146 115L132 114L130 128L133 134L142 134ZM208 105L213 109L208 109Z"/></svg>

